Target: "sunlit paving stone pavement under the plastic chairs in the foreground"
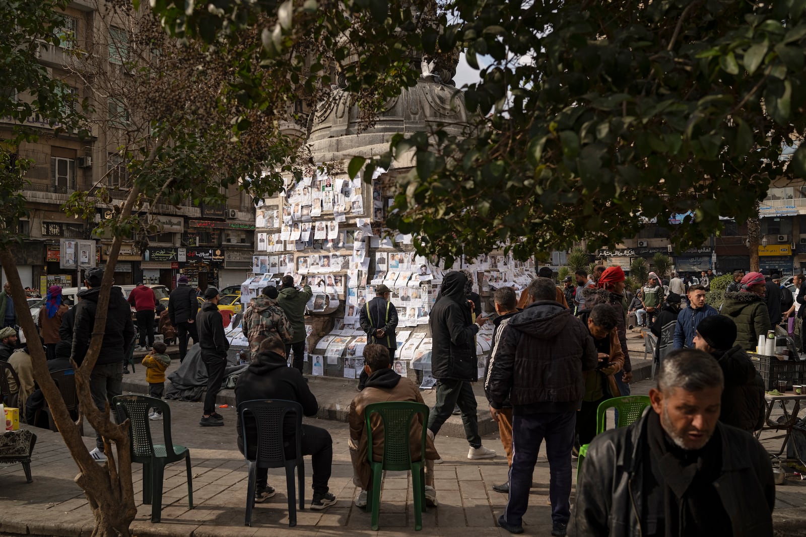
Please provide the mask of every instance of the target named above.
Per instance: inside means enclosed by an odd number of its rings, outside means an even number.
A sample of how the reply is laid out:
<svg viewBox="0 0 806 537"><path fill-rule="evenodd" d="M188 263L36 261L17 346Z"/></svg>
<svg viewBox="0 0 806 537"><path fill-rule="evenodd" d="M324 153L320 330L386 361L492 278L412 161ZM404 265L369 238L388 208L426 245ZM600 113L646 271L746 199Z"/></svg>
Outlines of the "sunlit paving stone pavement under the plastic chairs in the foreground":
<svg viewBox="0 0 806 537"><path fill-rule="evenodd" d="M636 382L634 394L646 394L650 381ZM370 530L370 514L352 503L357 490L347 448L347 424L323 419L306 423L326 428L333 437L334 461L330 489L338 502L323 511L297 511L297 527L288 527L285 475L269 470L269 482L277 494L257 504L252 527L244 527L247 469L235 447L235 411L219 410L224 427L197 425L202 403L169 402L174 442L189 446L193 463L193 500L188 509L185 465L165 469L162 523L150 522L151 506L142 504L142 466L135 464L134 489L137 517L134 535L414 535L411 480L405 473L388 473L380 506L380 531ZM160 422L152 422L160 425ZM81 489L73 482L77 467L56 432L35 429L38 440L31 465L34 482L27 484L21 465L0 467L0 535L89 535L93 518ZM762 437L767 448L779 446L771 435ZM88 449L92 436L85 436ZM423 533L428 535L509 535L496 527L496 518L506 502L492 486L504 482L507 465L500 440L484 436L484 445L499 452L495 459L467 460L467 442L438 436L437 448L444 463L435 467L434 486L439 506L423 514ZM777 451L777 449L776 449ZM310 504L310 457L305 469L306 507ZM575 471L574 471L575 479ZM541 452L533 476L530 507L524 518L527 535L550 535L547 505L549 471ZM776 535L806 535L806 481L787 479L776 491ZM573 496L571 497L573 505Z"/></svg>

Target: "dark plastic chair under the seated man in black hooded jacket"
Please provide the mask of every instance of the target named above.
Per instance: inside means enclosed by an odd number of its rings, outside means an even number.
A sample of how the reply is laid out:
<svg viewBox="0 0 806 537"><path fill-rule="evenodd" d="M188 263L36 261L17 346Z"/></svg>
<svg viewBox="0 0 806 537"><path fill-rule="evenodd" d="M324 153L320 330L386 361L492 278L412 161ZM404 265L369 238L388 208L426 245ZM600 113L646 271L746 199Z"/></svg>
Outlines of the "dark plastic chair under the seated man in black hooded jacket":
<svg viewBox="0 0 806 537"><path fill-rule="evenodd" d="M305 462L302 459L302 405L296 401L283 399L255 399L238 405L241 416L243 452L249 466L247 488L247 514L245 526L251 526L251 511L255 506L256 473L258 468L285 468L285 485L289 496L289 527L297 526L297 498L294 490L294 467L300 489L300 509L305 509ZM283 437L283 423L286 415L294 417L294 448L296 458L285 458L286 441ZM257 423L256 459L249 459L250 446L247 436L247 419ZM290 443L289 443L290 444Z"/></svg>

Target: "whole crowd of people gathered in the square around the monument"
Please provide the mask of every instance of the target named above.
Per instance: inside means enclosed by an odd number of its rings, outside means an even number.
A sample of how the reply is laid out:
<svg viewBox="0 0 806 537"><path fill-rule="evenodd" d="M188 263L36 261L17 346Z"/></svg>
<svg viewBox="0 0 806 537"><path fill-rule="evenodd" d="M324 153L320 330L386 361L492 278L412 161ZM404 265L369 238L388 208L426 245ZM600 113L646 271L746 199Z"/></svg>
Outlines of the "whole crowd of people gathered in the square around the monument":
<svg viewBox="0 0 806 537"><path fill-rule="evenodd" d="M63 308L56 288L48 292L39 325L54 366L69 364L70 357L80 364L87 352L102 276L98 269L87 272L87 290L79 294L74 308ZM511 287L497 289L493 295L496 314L484 316L480 297L472 291L472 275L448 272L429 317L436 402L427 421L418 419L410 432L412 459L424 461L426 468L426 503L438 505L433 469L442 459L435 440L452 413L461 415L468 459L496 456L484 447L479 434L472 383L483 382L509 465L507 482L493 487L508 494L498 518L506 531L523 531L534 466L545 440L551 535L568 531L572 535L726 535L725 528L732 529L730 535L771 535L775 504L771 465L750 435L762 424L764 387L747 351L755 348L758 335L793 316L803 318L800 305L806 304L803 275L795 278L798 292L791 303L785 300L787 293L780 291L776 276L765 279L759 272L734 273L717 311L706 304L713 279L709 272L696 280L672 273L668 282L653 272L629 296L619 266L597 266L591 275L578 271L559 287L550 269L542 267L520 298ZM362 507L372 487L366 407L377 402L423 401L418 386L392 369L397 311L389 302L388 287L379 285L375 292L359 316L368 345L359 393L349 409L348 444L353 480L359 487L354 502ZM302 374L304 312L310 297L309 286L297 288L293 277L285 276L279 289L265 287L251 300L243 316L251 362L235 384L236 403L293 400L301 404L304 415L317 415L317 399ZM180 361L187 353L188 337L199 344L208 372L200 425L211 427L223 423L214 403L229 343L218 312L218 291L208 287L203 298L199 308L196 292L181 277L168 299L167 316L177 330ZM145 300L143 311L149 311L147 295L141 299ZM139 312L138 300L135 295L133 304ZM0 296L6 317L7 303ZM651 407L642 418L629 427L597 435L599 404L630 391L632 366L626 335L633 313L634 324L650 328L656 337L667 337L674 350L660 363L657 386L650 390ZM476 334L491 317L492 351L479 378ZM170 357L164 343L154 341L147 327L138 326L140 345L149 350L143 360L149 394L160 398ZM806 336L806 331L801 333ZM6 352L14 349L15 337L9 325L0 329L0 359L8 360ZM134 339L129 304L113 293L102 352L91 375L93 401L99 408L121 393L126 349ZM40 393L28 400L32 408L41 407ZM160 418L156 412L151 416ZM240 419L239 415L238 448L254 457L256 423L247 419L243 437ZM380 427L380 422L373 424L373 432ZM426 451L421 452L424 428ZM285 423L285 437L294 434L295 429ZM314 468L311 508L325 509L336 502L328 486L333 440L325 429L307 423L301 435L302 452L312 457ZM380 461L383 435L373 434L372 442L372 456ZM571 461L582 444L589 447L572 510ZM293 445L289 442L289 450ZM97 461L106 460L100 436L92 453ZM268 472L259 468L256 502L274 494Z"/></svg>

